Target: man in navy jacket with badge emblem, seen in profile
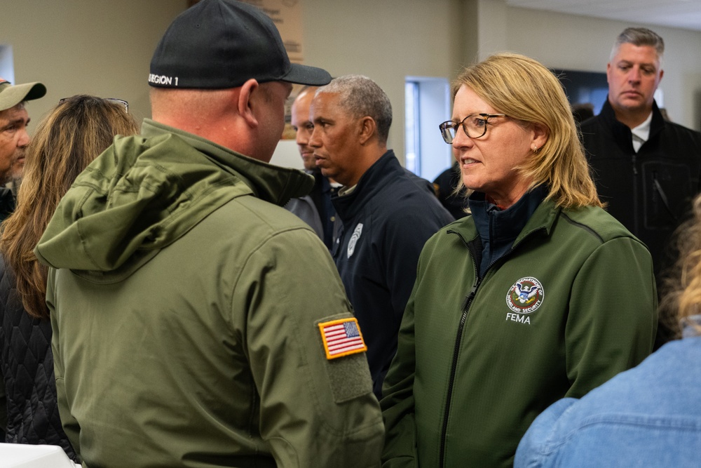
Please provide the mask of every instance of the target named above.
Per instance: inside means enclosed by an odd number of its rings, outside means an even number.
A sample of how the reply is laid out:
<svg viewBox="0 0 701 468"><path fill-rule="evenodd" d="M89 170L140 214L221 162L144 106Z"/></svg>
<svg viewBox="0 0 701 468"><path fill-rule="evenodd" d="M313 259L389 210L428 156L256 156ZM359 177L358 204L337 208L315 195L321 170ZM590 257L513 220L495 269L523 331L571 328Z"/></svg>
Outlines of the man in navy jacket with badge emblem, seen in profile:
<svg viewBox="0 0 701 468"><path fill-rule="evenodd" d="M426 181L402 168L387 138L392 105L366 76L320 88L309 145L322 174L343 185L332 198L343 229L332 254L367 343L373 389L397 349L404 307L423 244L454 218Z"/></svg>

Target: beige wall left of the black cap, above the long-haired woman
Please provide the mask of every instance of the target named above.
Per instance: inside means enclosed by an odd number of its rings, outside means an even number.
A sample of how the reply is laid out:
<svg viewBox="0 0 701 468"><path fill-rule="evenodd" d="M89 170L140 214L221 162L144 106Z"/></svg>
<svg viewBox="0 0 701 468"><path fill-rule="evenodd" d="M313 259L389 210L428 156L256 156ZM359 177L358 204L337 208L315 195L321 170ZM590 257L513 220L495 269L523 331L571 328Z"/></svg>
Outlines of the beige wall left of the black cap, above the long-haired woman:
<svg viewBox="0 0 701 468"><path fill-rule="evenodd" d="M139 121L150 115L151 54L186 0L22 0L6 2L0 44L11 44L15 81L41 81L29 102L34 123L60 98L122 98ZM31 128L30 128L31 131Z"/></svg>

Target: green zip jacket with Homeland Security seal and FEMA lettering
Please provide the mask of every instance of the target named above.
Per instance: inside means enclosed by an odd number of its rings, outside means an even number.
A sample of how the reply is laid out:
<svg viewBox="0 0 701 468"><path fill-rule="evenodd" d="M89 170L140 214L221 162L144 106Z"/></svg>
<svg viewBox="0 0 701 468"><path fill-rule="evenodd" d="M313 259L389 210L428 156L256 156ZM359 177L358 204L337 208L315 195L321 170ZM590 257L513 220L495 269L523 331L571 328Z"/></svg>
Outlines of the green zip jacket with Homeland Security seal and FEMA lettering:
<svg viewBox="0 0 701 468"><path fill-rule="evenodd" d="M383 467L509 467L550 403L652 351L651 255L601 208L543 201L481 281L478 239L468 217L423 248L383 387Z"/></svg>

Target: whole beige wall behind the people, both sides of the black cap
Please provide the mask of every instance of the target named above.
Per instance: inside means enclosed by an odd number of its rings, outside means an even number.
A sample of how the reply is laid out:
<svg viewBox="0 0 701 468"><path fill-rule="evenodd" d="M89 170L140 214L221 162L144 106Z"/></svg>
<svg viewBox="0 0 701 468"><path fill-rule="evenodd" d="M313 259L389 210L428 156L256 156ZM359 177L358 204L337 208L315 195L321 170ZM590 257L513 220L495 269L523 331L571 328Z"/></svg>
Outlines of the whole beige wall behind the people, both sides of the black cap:
<svg viewBox="0 0 701 468"><path fill-rule="evenodd" d="M301 0L308 65L334 76L370 76L394 108L390 145L403 159L404 77L454 79L470 60L498 51L531 55L548 67L604 71L625 22L511 8L503 0ZM40 80L39 116L76 93L125 98L149 116L151 53L186 0L24 0L0 19L18 82ZM30 19L29 19L30 18ZM701 127L701 32L652 26L667 43L661 88L675 121ZM294 147L292 148L294 151Z"/></svg>

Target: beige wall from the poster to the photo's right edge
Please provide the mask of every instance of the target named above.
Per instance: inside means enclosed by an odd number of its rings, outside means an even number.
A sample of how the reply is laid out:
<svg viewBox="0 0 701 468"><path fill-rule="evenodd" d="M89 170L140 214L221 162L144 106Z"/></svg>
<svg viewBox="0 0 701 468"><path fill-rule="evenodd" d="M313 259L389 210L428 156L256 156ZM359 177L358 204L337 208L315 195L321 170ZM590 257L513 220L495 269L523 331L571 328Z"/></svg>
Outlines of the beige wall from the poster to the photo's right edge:
<svg viewBox="0 0 701 468"><path fill-rule="evenodd" d="M512 8L503 0L303 0L306 63L370 76L394 109L390 145L404 148L404 76L454 79L491 53L530 55L547 67L604 72L626 22ZM667 45L665 107L701 129L701 32L651 26Z"/></svg>

